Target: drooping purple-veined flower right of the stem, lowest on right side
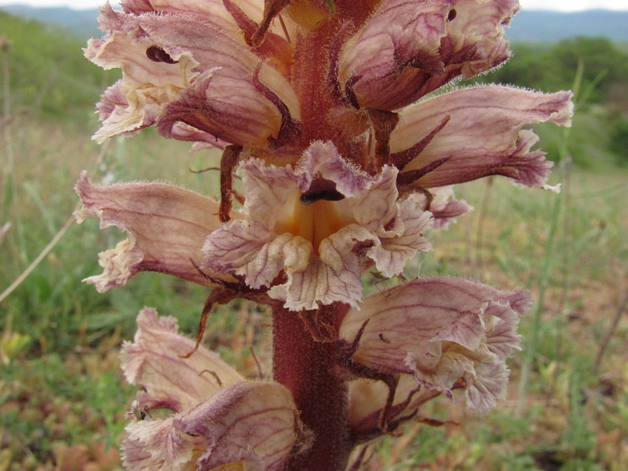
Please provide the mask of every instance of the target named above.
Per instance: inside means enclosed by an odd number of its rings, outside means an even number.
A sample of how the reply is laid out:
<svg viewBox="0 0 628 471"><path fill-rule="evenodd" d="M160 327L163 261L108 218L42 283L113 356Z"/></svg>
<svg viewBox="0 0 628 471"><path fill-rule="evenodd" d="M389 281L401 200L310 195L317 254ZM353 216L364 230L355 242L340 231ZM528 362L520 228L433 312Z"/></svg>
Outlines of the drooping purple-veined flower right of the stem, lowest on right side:
<svg viewBox="0 0 628 471"><path fill-rule="evenodd" d="M519 316L530 311L530 294L512 293L456 278L417 278L364 299L349 311L338 337L347 371L368 380L395 377L394 413L412 417L421 394L453 398L464 389L471 409L486 412L506 393L506 359L520 350ZM388 383L387 383L388 384ZM352 383L352 427L377 431L384 409L382 383ZM416 397L415 397L416 396ZM395 410L396 406L396 410Z"/></svg>

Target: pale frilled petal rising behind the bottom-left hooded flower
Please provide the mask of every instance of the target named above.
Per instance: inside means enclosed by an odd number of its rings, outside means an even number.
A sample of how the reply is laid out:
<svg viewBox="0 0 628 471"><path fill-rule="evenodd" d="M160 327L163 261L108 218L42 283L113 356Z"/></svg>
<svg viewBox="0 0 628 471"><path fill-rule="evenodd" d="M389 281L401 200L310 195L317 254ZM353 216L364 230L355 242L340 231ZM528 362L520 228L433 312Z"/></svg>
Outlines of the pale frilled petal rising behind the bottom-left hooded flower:
<svg viewBox="0 0 628 471"><path fill-rule="evenodd" d="M133 343L122 345L120 359L130 384L143 389L140 408L181 412L244 379L202 345L189 358L196 342L179 334L174 317L158 317L152 308L137 315Z"/></svg>

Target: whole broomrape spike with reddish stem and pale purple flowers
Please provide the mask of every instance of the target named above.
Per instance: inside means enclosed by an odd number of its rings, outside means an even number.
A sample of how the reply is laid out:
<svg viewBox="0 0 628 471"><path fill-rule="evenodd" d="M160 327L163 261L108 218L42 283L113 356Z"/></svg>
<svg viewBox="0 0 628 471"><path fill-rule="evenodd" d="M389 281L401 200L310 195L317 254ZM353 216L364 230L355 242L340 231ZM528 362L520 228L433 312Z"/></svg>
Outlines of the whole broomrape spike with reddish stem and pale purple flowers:
<svg viewBox="0 0 628 471"><path fill-rule="evenodd" d="M550 188L526 124L569 126L567 91L454 89L509 58L513 0L123 0L87 57L121 68L94 138L156 126L223 149L220 198L156 183L77 183L77 220L128 234L100 254L100 292L138 271L269 306L273 373L248 380L144 308L122 366L142 389L132 470L343 470L354 449L461 389L484 412L505 394L528 292L402 273L425 234L470 207L452 185L503 175ZM232 180L238 172L242 194ZM234 209L234 200L239 209ZM190 354L190 352L192 352ZM354 458L351 458L352 451ZM357 457L356 457L357 456Z"/></svg>

